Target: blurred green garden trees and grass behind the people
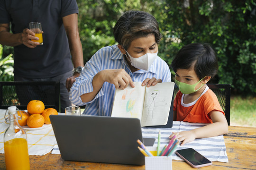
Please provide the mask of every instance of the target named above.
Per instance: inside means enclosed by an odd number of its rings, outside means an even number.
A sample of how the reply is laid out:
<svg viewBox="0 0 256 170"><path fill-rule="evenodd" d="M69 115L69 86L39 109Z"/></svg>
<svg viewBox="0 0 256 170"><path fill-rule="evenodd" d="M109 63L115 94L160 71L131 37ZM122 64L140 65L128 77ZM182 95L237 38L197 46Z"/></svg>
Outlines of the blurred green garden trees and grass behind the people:
<svg viewBox="0 0 256 170"><path fill-rule="evenodd" d="M158 55L168 65L186 44L213 47L219 73L209 83L231 85L230 125L256 127L255 0L76 1L84 63L101 47L117 43L112 28L123 12L146 11L159 23L163 39ZM13 48L0 45L0 81L13 81L12 66Z"/></svg>

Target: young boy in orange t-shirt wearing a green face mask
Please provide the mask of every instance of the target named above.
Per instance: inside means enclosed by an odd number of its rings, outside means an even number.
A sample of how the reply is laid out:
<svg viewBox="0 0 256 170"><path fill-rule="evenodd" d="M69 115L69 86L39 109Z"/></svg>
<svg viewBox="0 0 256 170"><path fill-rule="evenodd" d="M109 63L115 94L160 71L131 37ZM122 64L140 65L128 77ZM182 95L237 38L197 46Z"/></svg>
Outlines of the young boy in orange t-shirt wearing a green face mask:
<svg viewBox="0 0 256 170"><path fill-rule="evenodd" d="M173 133L181 145L196 138L226 134L228 122L216 95L206 83L218 71L218 60L207 44L192 43L184 46L172 62L175 83L179 91L174 99L174 120L191 123L210 123L189 131Z"/></svg>

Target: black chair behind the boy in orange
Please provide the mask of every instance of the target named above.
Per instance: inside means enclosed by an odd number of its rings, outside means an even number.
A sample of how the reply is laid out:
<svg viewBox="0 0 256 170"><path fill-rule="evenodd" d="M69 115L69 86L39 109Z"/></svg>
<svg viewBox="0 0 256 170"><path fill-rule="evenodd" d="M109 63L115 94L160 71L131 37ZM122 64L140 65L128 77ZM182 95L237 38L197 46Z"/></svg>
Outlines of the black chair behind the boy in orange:
<svg viewBox="0 0 256 170"><path fill-rule="evenodd" d="M230 125L230 91L231 87L229 84L207 84L208 87L216 94L219 104L225 112L225 117ZM174 96L179 91L177 85L174 87Z"/></svg>

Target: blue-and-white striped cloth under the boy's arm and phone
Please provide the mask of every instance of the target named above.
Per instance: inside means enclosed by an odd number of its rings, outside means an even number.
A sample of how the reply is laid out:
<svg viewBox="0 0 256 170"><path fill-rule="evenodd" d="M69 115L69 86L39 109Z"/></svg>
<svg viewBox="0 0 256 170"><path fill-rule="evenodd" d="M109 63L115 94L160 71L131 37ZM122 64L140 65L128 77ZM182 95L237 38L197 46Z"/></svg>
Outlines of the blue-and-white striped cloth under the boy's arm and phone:
<svg viewBox="0 0 256 170"><path fill-rule="evenodd" d="M160 130L161 131L160 146L164 147L165 144L169 143L168 137L172 134L172 132L191 130L191 129L202 127L205 125L206 124L201 124L201 123L188 123L188 122L174 121L172 128L142 127L142 136L155 138L155 143L153 147L156 147L158 143L158 132ZM179 145L176 148L176 150L189 148L189 147L195 149L196 151L198 151L199 153L207 157L210 161L229 162L223 135L196 139L190 143L184 144L183 146ZM52 154L60 154L58 145L55 145L52 151ZM182 160L175 153L172 154L172 158L174 160Z"/></svg>

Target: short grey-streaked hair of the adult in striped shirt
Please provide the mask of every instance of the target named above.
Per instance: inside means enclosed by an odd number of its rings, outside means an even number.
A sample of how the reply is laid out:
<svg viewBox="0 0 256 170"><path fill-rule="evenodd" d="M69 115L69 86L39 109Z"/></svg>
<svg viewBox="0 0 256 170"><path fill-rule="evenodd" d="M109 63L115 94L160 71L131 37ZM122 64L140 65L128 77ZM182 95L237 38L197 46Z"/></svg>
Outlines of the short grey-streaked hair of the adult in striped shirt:
<svg viewBox="0 0 256 170"><path fill-rule="evenodd" d="M162 38L155 17L147 12L137 10L126 11L114 26L113 33L115 40L126 50L130 43L137 38L153 34L156 43Z"/></svg>

